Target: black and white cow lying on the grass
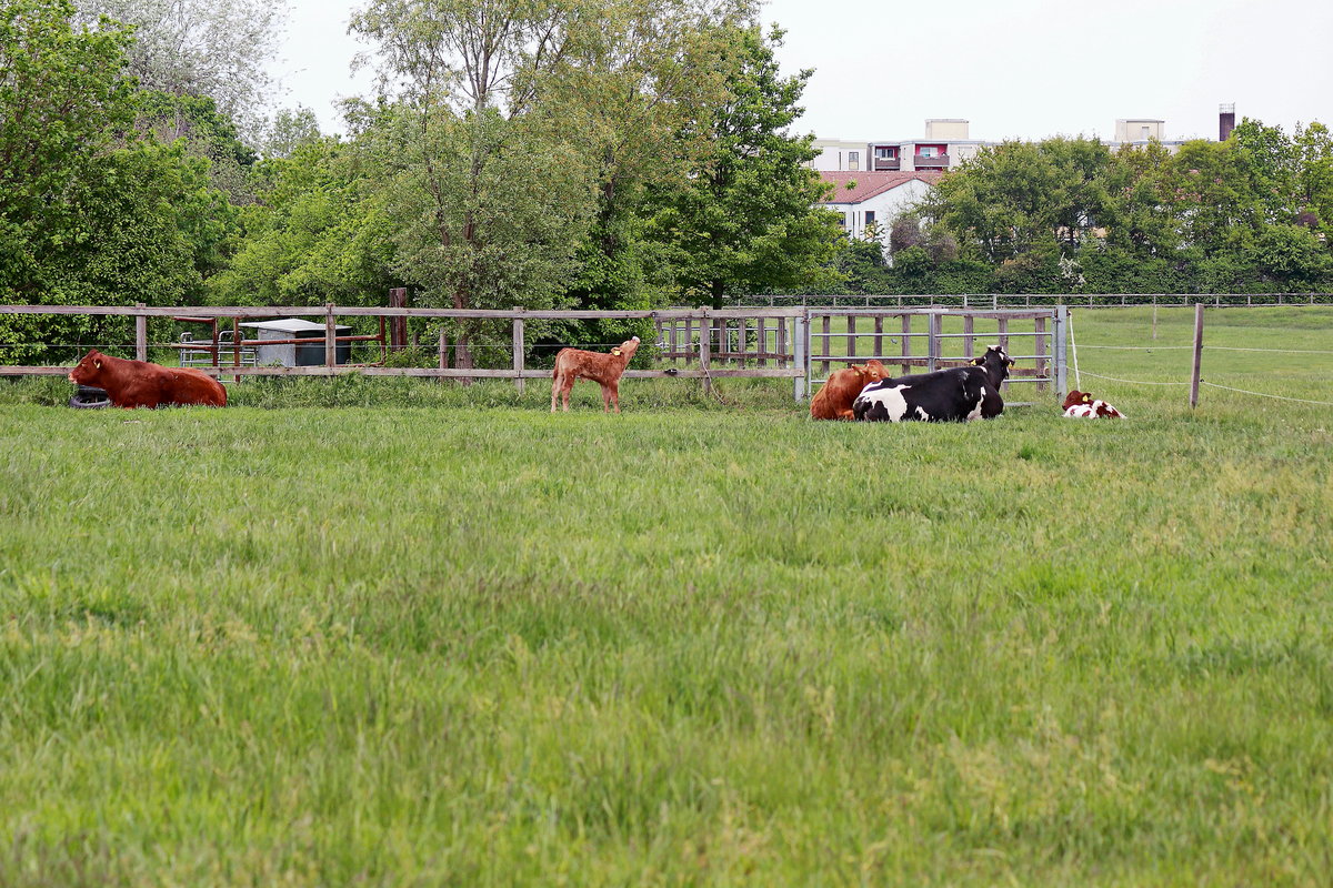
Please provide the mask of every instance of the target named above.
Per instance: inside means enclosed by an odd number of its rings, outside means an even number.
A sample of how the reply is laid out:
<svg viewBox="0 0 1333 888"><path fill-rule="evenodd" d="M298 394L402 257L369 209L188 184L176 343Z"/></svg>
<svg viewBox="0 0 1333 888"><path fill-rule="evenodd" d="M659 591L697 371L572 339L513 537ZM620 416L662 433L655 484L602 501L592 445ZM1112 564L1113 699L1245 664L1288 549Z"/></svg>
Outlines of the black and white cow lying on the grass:
<svg viewBox="0 0 1333 888"><path fill-rule="evenodd" d="M993 345L972 365L872 382L852 402L852 413L872 422L966 422L998 417L1004 411L1000 383L1008 378L1013 359Z"/></svg>

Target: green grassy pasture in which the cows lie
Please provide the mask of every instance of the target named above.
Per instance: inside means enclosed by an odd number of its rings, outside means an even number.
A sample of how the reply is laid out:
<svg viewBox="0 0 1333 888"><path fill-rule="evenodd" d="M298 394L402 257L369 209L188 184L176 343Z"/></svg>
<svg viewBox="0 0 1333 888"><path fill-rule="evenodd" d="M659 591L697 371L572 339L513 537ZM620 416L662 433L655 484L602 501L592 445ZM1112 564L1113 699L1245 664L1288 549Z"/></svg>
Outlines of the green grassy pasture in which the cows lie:
<svg viewBox="0 0 1333 888"><path fill-rule="evenodd" d="M1181 381L1188 316L1081 367ZM1132 419L0 381L0 885L1326 884L1333 409L1084 383Z"/></svg>

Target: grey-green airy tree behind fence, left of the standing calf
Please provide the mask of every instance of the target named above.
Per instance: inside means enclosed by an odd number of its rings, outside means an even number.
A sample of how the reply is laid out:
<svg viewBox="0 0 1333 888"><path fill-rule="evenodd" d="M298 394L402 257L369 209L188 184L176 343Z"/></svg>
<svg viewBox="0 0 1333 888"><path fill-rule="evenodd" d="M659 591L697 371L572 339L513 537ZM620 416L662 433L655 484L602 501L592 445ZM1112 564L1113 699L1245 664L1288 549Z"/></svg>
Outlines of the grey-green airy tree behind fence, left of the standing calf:
<svg viewBox="0 0 1333 888"><path fill-rule="evenodd" d="M367 140L396 268L420 302L560 302L592 217L593 176L543 96L577 24L569 8L540 0L375 0L353 19L380 47L385 84L401 84ZM459 366L473 366L483 329L459 324Z"/></svg>

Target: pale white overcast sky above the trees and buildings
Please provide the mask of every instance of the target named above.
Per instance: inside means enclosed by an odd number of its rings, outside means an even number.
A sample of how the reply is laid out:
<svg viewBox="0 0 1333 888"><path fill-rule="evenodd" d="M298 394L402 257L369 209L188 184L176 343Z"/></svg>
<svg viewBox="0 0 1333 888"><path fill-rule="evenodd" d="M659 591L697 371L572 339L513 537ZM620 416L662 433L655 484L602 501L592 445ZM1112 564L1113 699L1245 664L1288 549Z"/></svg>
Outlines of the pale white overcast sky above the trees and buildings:
<svg viewBox="0 0 1333 888"><path fill-rule="evenodd" d="M367 93L349 73L355 0L291 0L275 67L281 107L341 130L333 103ZM1333 126L1333 0L769 0L786 73L813 68L800 132L922 134L929 117L982 140L1086 134L1118 117L1165 120L1166 138L1217 137L1217 105L1292 132Z"/></svg>

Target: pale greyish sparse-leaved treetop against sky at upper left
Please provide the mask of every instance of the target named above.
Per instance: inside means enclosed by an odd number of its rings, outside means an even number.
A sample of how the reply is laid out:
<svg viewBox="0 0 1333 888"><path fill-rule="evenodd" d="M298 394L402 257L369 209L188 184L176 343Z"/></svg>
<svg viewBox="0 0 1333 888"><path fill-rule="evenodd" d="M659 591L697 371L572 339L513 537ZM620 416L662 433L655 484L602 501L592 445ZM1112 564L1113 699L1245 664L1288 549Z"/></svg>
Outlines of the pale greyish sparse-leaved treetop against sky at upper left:
<svg viewBox="0 0 1333 888"><path fill-rule="evenodd" d="M79 23L133 27L127 73L143 89L208 96L255 138L272 89L285 0L79 0Z"/></svg>

